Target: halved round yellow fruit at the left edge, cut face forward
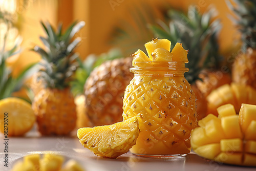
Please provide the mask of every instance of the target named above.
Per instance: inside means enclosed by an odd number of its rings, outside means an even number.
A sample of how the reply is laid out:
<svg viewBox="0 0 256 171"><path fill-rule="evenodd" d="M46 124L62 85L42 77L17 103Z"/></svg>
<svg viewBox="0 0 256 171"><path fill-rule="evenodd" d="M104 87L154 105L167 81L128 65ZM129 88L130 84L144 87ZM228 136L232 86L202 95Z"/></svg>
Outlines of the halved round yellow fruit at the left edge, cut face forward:
<svg viewBox="0 0 256 171"><path fill-rule="evenodd" d="M0 100L0 131L8 136L22 136L31 130L35 115L31 104L15 97ZM6 126L6 127L5 127Z"/></svg>

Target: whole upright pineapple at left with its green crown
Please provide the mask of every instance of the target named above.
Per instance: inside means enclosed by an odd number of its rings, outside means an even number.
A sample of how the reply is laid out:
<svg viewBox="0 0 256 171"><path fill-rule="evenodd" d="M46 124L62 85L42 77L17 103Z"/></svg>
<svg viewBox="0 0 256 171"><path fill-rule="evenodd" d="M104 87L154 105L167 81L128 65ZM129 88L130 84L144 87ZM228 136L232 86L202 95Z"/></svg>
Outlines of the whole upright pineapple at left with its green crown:
<svg viewBox="0 0 256 171"><path fill-rule="evenodd" d="M74 49L80 37L71 40L84 22L73 23L65 33L61 26L55 32L49 23L41 24L47 34L40 36L45 50L36 46L34 51L42 56L39 78L44 88L35 95L32 108L42 135L67 135L76 125L76 106L69 83L77 68Z"/></svg>

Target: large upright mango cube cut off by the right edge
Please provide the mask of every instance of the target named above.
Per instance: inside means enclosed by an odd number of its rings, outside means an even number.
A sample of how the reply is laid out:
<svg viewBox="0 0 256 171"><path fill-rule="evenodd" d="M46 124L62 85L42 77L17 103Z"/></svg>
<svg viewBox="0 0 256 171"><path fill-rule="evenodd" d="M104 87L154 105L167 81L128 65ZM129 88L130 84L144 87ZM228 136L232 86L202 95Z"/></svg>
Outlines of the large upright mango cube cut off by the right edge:
<svg viewBox="0 0 256 171"><path fill-rule="evenodd" d="M243 133L246 132L252 120L256 120L256 105L242 104L239 112L239 123Z"/></svg>

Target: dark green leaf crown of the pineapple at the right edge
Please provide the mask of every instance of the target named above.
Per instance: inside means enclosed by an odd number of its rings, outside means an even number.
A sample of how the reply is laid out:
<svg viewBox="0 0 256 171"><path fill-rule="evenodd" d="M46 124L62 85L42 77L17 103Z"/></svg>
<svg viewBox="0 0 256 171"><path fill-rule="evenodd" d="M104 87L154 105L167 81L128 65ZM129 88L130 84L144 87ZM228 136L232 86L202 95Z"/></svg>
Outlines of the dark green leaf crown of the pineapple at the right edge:
<svg viewBox="0 0 256 171"><path fill-rule="evenodd" d="M236 14L237 18L231 17L239 31L242 33L242 50L247 48L256 49L256 1L233 0L236 7L230 1L226 1L228 7Z"/></svg>

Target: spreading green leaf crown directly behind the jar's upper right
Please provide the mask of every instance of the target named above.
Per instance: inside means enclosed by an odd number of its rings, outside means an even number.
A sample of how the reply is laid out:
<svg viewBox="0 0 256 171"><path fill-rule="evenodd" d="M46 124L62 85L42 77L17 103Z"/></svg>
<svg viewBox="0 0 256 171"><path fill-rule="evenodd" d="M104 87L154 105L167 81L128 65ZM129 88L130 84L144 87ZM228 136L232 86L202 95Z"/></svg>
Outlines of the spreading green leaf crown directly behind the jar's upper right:
<svg viewBox="0 0 256 171"><path fill-rule="evenodd" d="M181 42L187 55L189 72L185 77L189 83L199 79L203 69L216 69L222 60L219 54L217 35L221 29L220 20L213 19L215 10L203 14L194 6L188 8L187 15L177 10L167 12L168 25L160 21L158 25L150 26L158 38L167 38L173 42ZM172 44L172 49L175 44Z"/></svg>

